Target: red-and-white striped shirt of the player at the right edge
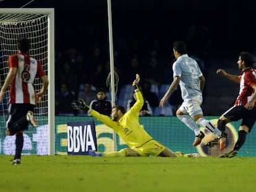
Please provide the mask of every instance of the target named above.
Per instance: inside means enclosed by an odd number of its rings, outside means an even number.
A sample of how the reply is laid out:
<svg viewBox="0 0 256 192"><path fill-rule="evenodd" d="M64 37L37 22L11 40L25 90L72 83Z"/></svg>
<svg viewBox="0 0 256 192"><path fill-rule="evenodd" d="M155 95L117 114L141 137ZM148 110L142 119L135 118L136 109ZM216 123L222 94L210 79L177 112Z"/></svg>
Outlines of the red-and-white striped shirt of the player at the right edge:
<svg viewBox="0 0 256 192"><path fill-rule="evenodd" d="M249 68L244 70L240 75L240 90L239 96L236 99L235 106L245 106L250 99L252 99L252 94L254 89L252 88L256 85L256 70ZM256 102L254 104L256 107Z"/></svg>

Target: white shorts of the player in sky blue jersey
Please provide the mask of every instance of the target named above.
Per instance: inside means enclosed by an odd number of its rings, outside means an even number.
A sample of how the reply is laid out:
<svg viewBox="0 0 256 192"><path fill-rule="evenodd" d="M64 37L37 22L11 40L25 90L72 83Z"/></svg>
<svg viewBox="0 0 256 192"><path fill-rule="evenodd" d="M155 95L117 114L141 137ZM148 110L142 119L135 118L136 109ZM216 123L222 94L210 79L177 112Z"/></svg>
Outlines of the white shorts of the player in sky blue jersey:
<svg viewBox="0 0 256 192"><path fill-rule="evenodd" d="M183 114L189 114L190 117L193 117L197 114L203 114L201 108L202 102L202 96L195 96L191 99L186 99L182 102L181 107L179 107L179 110L181 110Z"/></svg>

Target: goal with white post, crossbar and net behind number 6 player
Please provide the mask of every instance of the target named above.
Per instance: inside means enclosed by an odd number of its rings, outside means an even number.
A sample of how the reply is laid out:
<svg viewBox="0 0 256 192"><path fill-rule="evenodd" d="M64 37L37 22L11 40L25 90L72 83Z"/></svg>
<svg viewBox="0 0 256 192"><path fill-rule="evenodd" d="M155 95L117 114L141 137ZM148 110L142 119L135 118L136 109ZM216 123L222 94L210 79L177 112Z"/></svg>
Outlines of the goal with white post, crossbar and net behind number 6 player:
<svg viewBox="0 0 256 192"><path fill-rule="evenodd" d="M54 9L0 9L0 86L9 72L8 57L17 53L17 39L30 40L30 56L41 62L49 78L48 91L35 107L38 127L24 131L22 154L55 154L54 149ZM40 91L41 80L34 81ZM9 89L0 103L0 154L14 154L15 136L7 136Z"/></svg>

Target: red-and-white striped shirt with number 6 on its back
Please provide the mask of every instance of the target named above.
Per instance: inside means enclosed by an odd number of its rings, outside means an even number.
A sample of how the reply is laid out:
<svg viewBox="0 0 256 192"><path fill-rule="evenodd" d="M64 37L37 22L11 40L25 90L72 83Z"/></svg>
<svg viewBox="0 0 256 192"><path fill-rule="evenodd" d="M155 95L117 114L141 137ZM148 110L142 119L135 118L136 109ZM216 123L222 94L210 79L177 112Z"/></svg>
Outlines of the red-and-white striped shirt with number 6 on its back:
<svg viewBox="0 0 256 192"><path fill-rule="evenodd" d="M29 54L19 53L9 56L9 67L16 67L17 72L10 88L10 103L35 104L35 77L43 77L45 72L39 61Z"/></svg>

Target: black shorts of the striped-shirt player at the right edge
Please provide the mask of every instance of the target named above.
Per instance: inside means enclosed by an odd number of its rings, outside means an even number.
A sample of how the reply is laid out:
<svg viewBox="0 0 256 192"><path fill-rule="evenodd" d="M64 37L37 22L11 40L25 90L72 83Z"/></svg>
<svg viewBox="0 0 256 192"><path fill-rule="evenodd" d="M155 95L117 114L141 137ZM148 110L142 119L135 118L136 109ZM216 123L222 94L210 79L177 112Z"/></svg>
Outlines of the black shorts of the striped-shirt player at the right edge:
<svg viewBox="0 0 256 192"><path fill-rule="evenodd" d="M223 116L231 121L242 119L241 125L247 126L250 131L256 121L256 107L248 110L244 106L233 106Z"/></svg>

